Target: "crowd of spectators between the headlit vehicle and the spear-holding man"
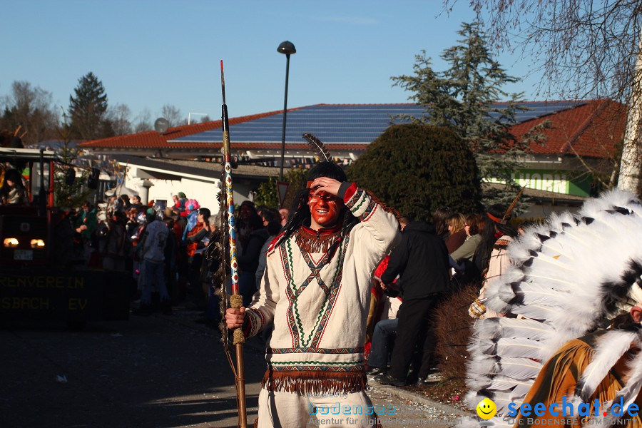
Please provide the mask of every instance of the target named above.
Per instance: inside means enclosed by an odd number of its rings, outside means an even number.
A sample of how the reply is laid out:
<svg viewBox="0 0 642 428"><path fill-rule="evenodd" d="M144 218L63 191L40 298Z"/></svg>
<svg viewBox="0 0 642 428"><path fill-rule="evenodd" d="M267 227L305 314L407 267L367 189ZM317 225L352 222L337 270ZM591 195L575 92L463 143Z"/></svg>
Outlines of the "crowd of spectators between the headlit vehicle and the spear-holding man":
<svg viewBox="0 0 642 428"><path fill-rule="evenodd" d="M265 270L262 249L287 220L287 210L245 201L237 216L240 290L249 302ZM213 275L220 260L208 260L205 250L210 240L220 240L220 217L197 200L179 192L163 208L153 200L143 204L139 195L114 195L98 206L83 203L61 223L73 233L72 265L128 272L132 299L139 302L135 315L171 314L180 303L203 310L198 322L218 325L213 285L222 285L213 284Z"/></svg>

